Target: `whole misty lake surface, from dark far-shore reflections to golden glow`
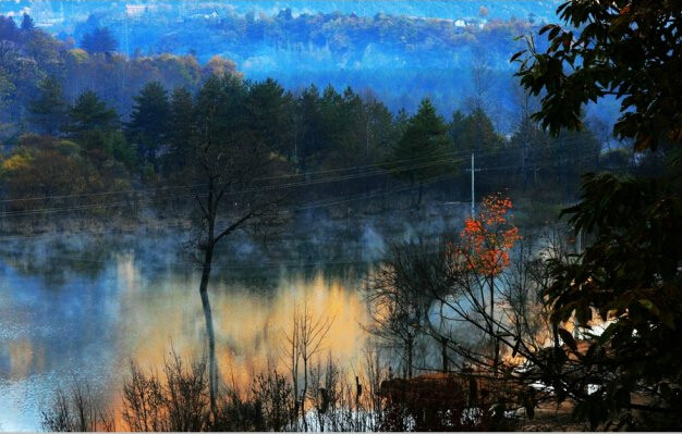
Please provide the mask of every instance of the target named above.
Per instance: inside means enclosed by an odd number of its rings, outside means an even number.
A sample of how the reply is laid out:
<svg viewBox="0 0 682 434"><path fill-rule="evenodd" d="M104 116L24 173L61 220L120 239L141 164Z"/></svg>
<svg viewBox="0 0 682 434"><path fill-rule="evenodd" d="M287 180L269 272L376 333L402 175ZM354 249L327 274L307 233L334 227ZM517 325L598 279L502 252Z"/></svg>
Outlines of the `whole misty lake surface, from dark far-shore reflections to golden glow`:
<svg viewBox="0 0 682 434"><path fill-rule="evenodd" d="M430 215L377 222L308 213L301 216L308 230L300 238L299 230L276 243L248 234L231 238L209 286L221 376L246 388L268 367L284 372L282 334L304 303L314 317L333 318L324 357L329 351L344 368L358 367L369 320L362 292L368 273L391 239L455 227L455 216ZM184 233L144 230L2 237L3 430L39 430L40 410L58 386L87 382L118 407L131 360L160 369L172 349L202 357L199 272L184 253L185 240Z"/></svg>

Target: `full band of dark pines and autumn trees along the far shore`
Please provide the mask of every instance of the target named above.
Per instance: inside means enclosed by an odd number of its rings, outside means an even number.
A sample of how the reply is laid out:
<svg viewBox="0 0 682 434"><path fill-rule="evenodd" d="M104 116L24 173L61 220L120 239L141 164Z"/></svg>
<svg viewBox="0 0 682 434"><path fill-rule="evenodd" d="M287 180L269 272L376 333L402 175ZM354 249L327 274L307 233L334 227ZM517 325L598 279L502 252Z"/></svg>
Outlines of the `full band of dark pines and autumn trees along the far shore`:
<svg viewBox="0 0 682 434"><path fill-rule="evenodd" d="M449 119L429 99L410 115L391 112L372 91L309 86L293 94L273 79L247 80L221 58L200 66L192 55L129 60L69 49L28 16L20 27L0 18L0 34L1 170L11 212L45 208L60 197L75 197L70 207L87 201L97 208L103 197L88 195L182 183L178 174L191 161L196 120L207 103L221 108L217 119L226 132L267 147L292 174L344 176L317 194L386 190L398 183L414 187L416 206L425 186L465 199L464 169L473 152L480 195L540 188L571 198L581 173L634 164L616 144L602 149L608 132L550 137L529 120L528 100L519 106L514 133L503 136L482 95L470 96L470 110Z"/></svg>

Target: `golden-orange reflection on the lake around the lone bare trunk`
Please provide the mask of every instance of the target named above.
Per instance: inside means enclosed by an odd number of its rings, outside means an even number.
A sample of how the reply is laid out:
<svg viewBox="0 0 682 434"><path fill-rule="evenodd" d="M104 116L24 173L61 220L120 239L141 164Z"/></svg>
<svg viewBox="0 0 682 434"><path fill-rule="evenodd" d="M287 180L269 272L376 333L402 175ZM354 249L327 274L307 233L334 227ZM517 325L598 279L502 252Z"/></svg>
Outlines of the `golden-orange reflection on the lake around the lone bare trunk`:
<svg viewBox="0 0 682 434"><path fill-rule="evenodd" d="M169 272L170 273L170 272ZM117 352L145 369L161 372L163 359L174 350L188 360L206 351L206 324L198 294L198 274L162 275L142 282L132 258L120 257L118 285L122 321L118 325ZM306 305L313 318L333 319L319 357L332 354L344 367L362 361L367 310L358 288L321 272L313 278L282 273L275 288L247 292L238 284L209 284L216 330L219 374L228 386L248 390L253 377L268 369L287 373L283 334L293 325L296 307ZM357 283L360 285L360 283ZM124 319L124 320L123 320ZM127 361L120 361L127 372ZM120 408L121 384L114 406Z"/></svg>

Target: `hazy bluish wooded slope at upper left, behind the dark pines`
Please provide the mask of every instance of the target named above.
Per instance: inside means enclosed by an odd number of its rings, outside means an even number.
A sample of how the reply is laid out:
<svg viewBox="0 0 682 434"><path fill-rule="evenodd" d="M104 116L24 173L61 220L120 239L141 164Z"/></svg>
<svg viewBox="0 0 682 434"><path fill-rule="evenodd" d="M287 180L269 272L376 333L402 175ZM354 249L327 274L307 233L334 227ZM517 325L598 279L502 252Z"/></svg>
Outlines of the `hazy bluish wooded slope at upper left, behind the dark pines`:
<svg viewBox="0 0 682 434"><path fill-rule="evenodd" d="M220 57L205 65L191 54L129 59L114 52L114 45L102 29L88 35L86 51L36 28L28 15L21 26L0 16L0 137L31 128L31 104L48 77L59 83L66 101L89 89L126 117L133 97L147 82L196 90L211 74L236 71L233 62Z"/></svg>

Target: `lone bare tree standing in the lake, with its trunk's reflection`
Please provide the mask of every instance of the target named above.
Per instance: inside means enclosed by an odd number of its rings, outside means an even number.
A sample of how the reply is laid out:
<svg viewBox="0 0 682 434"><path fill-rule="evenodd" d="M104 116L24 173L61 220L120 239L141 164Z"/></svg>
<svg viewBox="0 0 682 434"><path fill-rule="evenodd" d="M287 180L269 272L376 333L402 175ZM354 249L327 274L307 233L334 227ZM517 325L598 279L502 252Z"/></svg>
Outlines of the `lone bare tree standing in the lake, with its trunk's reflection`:
<svg viewBox="0 0 682 434"><path fill-rule="evenodd" d="M210 77L196 100L192 162L186 179L195 199L194 234L190 247L198 252L199 294L206 321L210 408L216 416L218 384L216 336L208 283L216 248L229 235L273 211L279 198L263 179L275 171L267 147L240 121L243 84L239 78Z"/></svg>

